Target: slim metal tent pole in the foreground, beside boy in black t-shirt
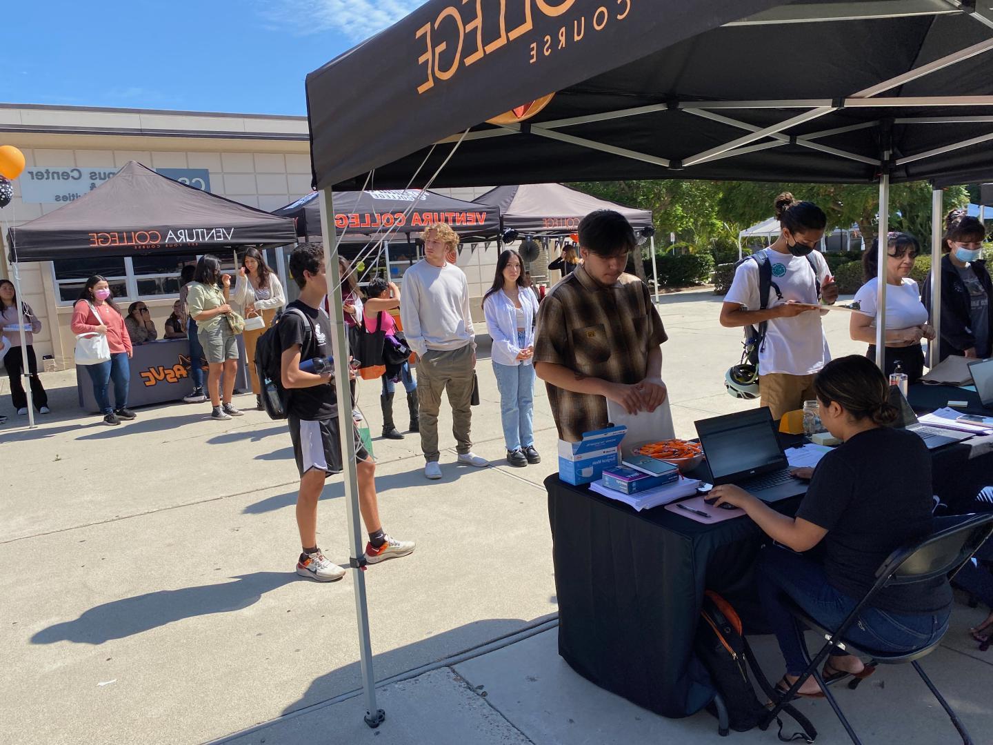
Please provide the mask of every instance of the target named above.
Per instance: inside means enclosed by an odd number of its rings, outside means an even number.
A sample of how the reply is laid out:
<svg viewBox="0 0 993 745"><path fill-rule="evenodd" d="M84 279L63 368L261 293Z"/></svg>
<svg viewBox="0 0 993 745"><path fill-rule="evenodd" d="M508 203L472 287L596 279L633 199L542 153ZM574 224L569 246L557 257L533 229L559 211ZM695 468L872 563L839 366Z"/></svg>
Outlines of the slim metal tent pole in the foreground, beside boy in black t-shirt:
<svg viewBox="0 0 993 745"><path fill-rule="evenodd" d="M345 477L345 507L349 519L349 542L352 547L351 568L355 571L355 616L358 622L358 655L365 691L365 723L377 727L383 720L382 709L375 705L375 677L372 671L372 645L369 641L369 617L365 598L361 522L358 517L358 482L355 475L355 422L352 420L352 390L349 387L349 353L342 302L342 277L338 266L338 232L334 222L332 190L321 190L321 229L324 235L324 264L328 279L328 302L332 319L331 346L335 358L335 392L338 396L338 427L342 438L342 465Z"/></svg>

